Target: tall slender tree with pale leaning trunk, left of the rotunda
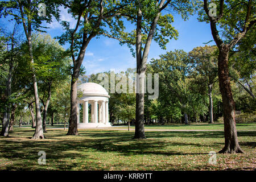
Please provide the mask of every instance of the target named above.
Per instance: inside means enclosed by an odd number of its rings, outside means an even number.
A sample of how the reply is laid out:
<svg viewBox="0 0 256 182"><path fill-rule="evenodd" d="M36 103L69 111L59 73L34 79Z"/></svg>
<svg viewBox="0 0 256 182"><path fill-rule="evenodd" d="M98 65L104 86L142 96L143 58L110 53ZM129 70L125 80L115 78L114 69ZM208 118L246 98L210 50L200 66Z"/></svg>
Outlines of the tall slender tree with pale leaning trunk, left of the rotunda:
<svg viewBox="0 0 256 182"><path fill-rule="evenodd" d="M38 5L39 3L47 4L47 11L45 16L39 16ZM32 53L32 30L40 30L42 28L41 24L43 20L46 20L47 23L51 22L52 15L55 15L58 18L58 10L56 9L55 3L51 1L2 1L0 4L1 15L7 16L11 15L19 23L23 24L24 34L27 38L28 52L30 56L31 65L34 64L34 56ZM18 13L16 13L18 12ZM40 101L38 94L38 83L36 81L36 70L32 66L32 81L36 105L36 129L32 139L43 139L44 134L42 130L42 116L40 112Z"/></svg>

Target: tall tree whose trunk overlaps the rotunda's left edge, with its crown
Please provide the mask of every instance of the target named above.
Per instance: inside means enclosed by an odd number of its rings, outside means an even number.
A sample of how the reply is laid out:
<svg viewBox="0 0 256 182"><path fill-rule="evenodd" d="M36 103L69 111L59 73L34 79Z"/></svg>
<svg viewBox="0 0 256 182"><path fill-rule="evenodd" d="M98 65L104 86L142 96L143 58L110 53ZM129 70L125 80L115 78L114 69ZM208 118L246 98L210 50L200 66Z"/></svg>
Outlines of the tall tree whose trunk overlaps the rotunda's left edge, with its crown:
<svg viewBox="0 0 256 182"><path fill-rule="evenodd" d="M113 37L123 30L123 22L118 11L125 7L118 1L61 1L68 12L76 19L75 28L69 22L61 22L65 33L58 37L60 43L70 43L69 55L72 57L71 110L67 135L78 135L77 131L77 81L81 64L90 40L96 36ZM107 28L108 27L108 28ZM109 30L109 31L108 31Z"/></svg>

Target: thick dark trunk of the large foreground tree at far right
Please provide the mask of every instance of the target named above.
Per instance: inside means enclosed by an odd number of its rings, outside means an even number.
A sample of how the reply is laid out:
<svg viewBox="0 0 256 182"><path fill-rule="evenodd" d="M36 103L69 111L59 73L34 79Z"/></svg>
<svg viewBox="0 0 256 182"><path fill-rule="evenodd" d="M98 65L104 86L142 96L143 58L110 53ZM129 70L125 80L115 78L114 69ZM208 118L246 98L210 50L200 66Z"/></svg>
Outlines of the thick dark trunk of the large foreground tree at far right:
<svg viewBox="0 0 256 182"><path fill-rule="evenodd" d="M242 153L237 139L235 104L228 72L228 46L221 46L218 55L218 79L223 102L225 146L219 153Z"/></svg>

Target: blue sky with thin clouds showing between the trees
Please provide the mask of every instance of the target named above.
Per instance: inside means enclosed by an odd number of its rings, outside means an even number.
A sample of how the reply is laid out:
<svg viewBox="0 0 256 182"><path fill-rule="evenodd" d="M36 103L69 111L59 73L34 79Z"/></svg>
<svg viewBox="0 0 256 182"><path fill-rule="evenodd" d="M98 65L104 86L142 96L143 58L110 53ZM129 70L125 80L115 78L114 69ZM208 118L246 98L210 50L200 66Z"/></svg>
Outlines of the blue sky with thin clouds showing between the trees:
<svg viewBox="0 0 256 182"><path fill-rule="evenodd" d="M61 9L61 20L67 20L71 23L71 27L75 27L75 21L67 13L67 10ZM6 24L6 20L1 19L1 26ZM48 29L48 34L53 37L61 35L63 32L60 24L53 20ZM174 15L174 23L172 26L179 32L177 40L171 40L166 50L161 49L158 44L152 42L150 47L150 53L148 55L148 62L152 58L158 58L159 55L166 53L167 51L174 51L174 49L183 49L184 51L191 51L197 46L204 46L205 42L212 40L212 34L210 32L210 25L205 22L198 22L196 16L191 16L189 20L184 21L179 15ZM135 28L128 25L128 28ZM209 45L214 42L209 43ZM67 48L65 46L65 48ZM136 60L131 55L130 49L126 46L120 46L118 40L105 38L101 36L100 39L92 39L86 49L86 55L82 63L86 69L86 75L92 73L109 71L114 69L115 72L125 71L127 68L135 68Z"/></svg>

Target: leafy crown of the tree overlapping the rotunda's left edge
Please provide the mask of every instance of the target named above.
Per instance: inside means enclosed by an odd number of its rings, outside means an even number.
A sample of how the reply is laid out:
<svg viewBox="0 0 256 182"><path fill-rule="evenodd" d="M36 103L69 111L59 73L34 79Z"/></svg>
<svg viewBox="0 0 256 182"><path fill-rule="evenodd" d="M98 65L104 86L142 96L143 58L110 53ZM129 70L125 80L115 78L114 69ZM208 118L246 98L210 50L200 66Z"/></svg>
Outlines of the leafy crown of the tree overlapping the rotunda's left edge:
<svg viewBox="0 0 256 182"><path fill-rule="evenodd" d="M70 56L78 56L82 43L95 36L98 38L98 36L104 35L113 38L123 34L125 27L119 11L125 7L125 3L110 0L104 0L102 3L101 1L63 0L59 3L68 8L68 13L77 21L76 28L71 28L67 21L61 21L65 32L61 36L57 36L61 45L71 44L67 50ZM100 14L101 6L102 15Z"/></svg>

